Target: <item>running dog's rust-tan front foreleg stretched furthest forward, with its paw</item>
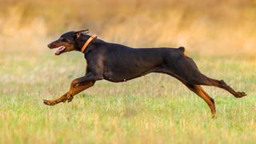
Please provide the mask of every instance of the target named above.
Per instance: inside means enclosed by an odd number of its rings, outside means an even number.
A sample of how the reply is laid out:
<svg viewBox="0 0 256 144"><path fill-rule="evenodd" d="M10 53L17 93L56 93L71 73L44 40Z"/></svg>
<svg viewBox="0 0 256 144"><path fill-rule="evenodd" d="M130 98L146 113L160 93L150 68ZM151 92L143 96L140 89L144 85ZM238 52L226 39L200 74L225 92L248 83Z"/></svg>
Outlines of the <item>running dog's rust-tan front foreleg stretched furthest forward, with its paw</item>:
<svg viewBox="0 0 256 144"><path fill-rule="evenodd" d="M94 86L94 82L82 83L82 84L79 84L79 86L75 86L72 89L72 96L71 97L68 97L68 94L70 93L70 91L69 91L66 94L63 94L60 98L57 98L57 99L54 99L54 100L46 100L46 99L44 99L43 102L46 105L49 105L49 106L54 106L54 105L58 104L59 102L66 102L66 100L68 100L70 102L73 99L73 96L75 94L78 94L81 91L86 90L86 89L88 89L91 86Z"/></svg>

